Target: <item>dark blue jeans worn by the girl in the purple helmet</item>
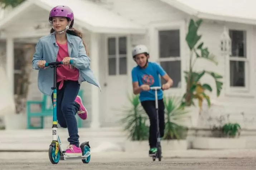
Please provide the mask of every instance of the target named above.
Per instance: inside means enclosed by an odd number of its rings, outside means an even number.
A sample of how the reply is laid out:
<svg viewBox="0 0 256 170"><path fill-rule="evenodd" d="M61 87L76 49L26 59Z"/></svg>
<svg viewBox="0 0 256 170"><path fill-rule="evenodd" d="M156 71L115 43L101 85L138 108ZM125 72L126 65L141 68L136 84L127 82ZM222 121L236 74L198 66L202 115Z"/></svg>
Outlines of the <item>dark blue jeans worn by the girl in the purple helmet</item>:
<svg viewBox="0 0 256 170"><path fill-rule="evenodd" d="M76 113L79 109L79 105L74 102L80 84L78 81L64 81L62 89L58 89L59 83L57 83L57 120L61 127L68 128L68 142L69 144L79 147L79 136L77 128ZM53 100L53 94L52 94Z"/></svg>

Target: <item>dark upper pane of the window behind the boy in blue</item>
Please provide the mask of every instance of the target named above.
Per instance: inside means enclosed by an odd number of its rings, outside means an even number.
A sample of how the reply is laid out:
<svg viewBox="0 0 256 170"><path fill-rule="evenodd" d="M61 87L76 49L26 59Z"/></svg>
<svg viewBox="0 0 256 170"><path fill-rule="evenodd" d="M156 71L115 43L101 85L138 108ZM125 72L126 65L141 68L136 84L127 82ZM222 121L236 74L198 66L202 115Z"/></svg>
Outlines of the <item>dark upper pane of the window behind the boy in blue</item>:
<svg viewBox="0 0 256 170"><path fill-rule="evenodd" d="M179 30L159 31L159 56L161 58L180 56Z"/></svg>

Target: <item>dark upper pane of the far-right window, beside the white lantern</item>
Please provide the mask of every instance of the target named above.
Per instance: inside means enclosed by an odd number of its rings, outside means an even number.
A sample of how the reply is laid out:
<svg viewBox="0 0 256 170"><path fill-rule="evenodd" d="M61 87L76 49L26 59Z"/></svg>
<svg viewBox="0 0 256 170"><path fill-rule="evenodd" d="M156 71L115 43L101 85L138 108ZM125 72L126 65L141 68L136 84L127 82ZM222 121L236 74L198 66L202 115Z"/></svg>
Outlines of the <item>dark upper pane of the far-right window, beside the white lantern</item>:
<svg viewBox="0 0 256 170"><path fill-rule="evenodd" d="M231 56L246 57L246 31L230 30Z"/></svg>

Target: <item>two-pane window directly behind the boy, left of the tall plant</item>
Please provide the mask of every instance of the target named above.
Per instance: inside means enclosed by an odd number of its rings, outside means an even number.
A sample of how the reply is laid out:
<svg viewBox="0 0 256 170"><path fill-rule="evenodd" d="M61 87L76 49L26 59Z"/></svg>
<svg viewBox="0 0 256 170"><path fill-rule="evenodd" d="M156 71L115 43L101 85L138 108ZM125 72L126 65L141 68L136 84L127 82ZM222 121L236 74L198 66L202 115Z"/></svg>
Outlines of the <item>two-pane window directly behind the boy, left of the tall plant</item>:
<svg viewBox="0 0 256 170"><path fill-rule="evenodd" d="M173 79L172 87L181 87L180 30L159 31L159 61ZM161 78L162 84L165 80Z"/></svg>

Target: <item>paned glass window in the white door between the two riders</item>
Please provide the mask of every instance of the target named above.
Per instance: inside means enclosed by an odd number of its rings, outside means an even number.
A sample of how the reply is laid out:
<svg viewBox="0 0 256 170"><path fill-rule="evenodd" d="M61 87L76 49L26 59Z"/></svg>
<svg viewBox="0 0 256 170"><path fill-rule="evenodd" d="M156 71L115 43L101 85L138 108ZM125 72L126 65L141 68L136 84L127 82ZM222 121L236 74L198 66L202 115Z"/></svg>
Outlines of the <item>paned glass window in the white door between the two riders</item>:
<svg viewBox="0 0 256 170"><path fill-rule="evenodd" d="M108 75L127 74L127 38L108 38Z"/></svg>

